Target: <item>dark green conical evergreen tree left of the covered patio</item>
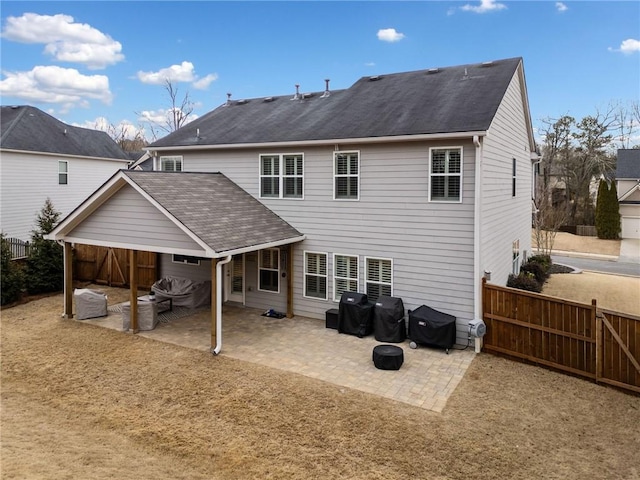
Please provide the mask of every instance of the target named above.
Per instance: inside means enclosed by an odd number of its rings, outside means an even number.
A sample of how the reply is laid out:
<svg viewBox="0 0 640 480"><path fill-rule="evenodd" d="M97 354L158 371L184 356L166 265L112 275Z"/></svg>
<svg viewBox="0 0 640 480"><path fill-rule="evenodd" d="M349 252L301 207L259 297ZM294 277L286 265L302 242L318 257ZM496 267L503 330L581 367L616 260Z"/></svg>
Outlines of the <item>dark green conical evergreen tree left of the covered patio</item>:
<svg viewBox="0 0 640 480"><path fill-rule="evenodd" d="M31 247L27 258L26 286L31 294L57 292L64 286L63 248L44 236L50 233L60 218L58 212L47 198L38 214L36 225L31 231Z"/></svg>

